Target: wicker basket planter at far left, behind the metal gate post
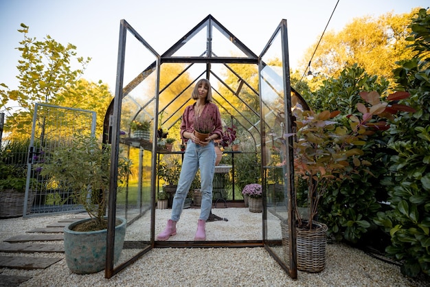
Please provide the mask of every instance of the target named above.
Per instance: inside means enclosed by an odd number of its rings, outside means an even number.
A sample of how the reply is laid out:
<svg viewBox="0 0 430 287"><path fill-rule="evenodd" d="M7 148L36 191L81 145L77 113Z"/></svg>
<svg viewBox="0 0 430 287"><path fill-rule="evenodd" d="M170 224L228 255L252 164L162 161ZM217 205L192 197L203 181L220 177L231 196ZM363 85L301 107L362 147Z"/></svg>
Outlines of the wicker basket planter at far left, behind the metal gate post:
<svg viewBox="0 0 430 287"><path fill-rule="evenodd" d="M36 192L31 191L28 194L27 214L32 209ZM19 217L23 216L25 192L16 192L16 190L0 190L0 217Z"/></svg>

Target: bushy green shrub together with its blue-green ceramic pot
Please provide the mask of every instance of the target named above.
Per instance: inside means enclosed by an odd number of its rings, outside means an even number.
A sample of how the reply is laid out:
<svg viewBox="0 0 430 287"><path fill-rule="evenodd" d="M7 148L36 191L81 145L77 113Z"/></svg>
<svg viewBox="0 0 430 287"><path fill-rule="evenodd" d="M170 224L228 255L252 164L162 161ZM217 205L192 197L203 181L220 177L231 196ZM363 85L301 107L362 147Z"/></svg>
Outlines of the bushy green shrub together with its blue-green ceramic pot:
<svg viewBox="0 0 430 287"><path fill-rule="evenodd" d="M109 145L98 143L95 137L74 135L70 144L47 150L45 163L36 165L41 176L49 179L49 185L68 187L73 200L89 214L89 219L78 220L65 227L65 257L73 273L95 273L102 271L105 266L110 151ZM130 167L130 160L124 157L119 159L119 184L131 174ZM118 217L115 226L115 262L121 255L125 231L126 219Z"/></svg>

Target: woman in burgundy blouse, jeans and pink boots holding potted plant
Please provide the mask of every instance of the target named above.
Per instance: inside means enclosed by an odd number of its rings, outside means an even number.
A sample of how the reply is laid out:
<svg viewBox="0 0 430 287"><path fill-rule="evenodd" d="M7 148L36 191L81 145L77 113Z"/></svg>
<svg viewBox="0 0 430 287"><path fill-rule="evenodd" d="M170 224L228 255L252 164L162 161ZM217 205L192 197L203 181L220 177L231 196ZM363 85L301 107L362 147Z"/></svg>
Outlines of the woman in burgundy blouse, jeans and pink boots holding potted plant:
<svg viewBox="0 0 430 287"><path fill-rule="evenodd" d="M192 91L192 99L196 100L187 106L183 112L181 122L181 137L187 142L187 149L183 157L181 175L177 191L172 203L172 215L167 227L157 236L157 240L168 240L176 232L176 224L183 210L183 203L190 190L191 183L200 169L201 176L201 211L197 222L197 232L194 240L206 240L205 223L212 208L212 181L214 180L215 159L214 139L223 135L223 126L218 106L212 103L212 91L209 80L201 79ZM212 121L214 130L206 139L200 140L194 135L194 119Z"/></svg>

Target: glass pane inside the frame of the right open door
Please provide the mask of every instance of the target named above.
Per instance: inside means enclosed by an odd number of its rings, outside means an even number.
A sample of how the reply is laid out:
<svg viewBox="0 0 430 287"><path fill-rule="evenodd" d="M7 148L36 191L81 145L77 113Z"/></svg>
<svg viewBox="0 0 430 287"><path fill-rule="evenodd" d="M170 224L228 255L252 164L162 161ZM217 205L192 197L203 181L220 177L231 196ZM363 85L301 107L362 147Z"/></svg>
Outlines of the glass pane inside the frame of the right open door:
<svg viewBox="0 0 430 287"><path fill-rule="evenodd" d="M290 268L286 245L288 192L286 183L286 133L284 62L282 34L279 29L260 63L260 94L262 100L263 185L266 192L267 218L264 220L267 246Z"/></svg>

